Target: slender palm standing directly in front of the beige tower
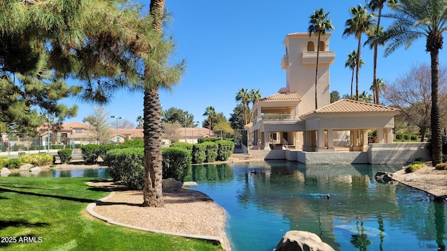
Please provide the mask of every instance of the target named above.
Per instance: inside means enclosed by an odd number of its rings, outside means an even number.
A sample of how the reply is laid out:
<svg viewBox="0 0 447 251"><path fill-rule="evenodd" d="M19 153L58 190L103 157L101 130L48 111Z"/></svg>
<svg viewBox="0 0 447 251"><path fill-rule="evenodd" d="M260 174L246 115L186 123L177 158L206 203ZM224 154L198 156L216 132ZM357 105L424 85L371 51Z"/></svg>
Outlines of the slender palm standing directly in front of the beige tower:
<svg viewBox="0 0 447 251"><path fill-rule="evenodd" d="M320 56L320 39L321 35L325 35L326 31L332 31L334 26L330 19L328 19L329 13L324 13L323 8L319 10L314 10L314 15L311 15L309 18L309 27L307 31L309 31L309 37L312 36L312 33L318 36L316 43L316 70L315 70L315 109L318 109L317 105L317 92L316 92L316 84L318 82L318 57Z"/></svg>

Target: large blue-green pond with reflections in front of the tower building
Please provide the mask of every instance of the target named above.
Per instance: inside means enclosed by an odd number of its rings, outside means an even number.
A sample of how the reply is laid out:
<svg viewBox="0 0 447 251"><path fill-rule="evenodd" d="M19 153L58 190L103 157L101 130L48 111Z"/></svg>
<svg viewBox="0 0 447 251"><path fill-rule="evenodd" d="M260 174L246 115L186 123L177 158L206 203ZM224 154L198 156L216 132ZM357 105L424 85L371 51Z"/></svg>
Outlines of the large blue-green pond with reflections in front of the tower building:
<svg viewBox="0 0 447 251"><path fill-rule="evenodd" d="M272 250L288 230L310 231L335 250L445 250L444 203L374 180L400 168L246 162L193 166L191 179L225 208L233 250Z"/></svg>

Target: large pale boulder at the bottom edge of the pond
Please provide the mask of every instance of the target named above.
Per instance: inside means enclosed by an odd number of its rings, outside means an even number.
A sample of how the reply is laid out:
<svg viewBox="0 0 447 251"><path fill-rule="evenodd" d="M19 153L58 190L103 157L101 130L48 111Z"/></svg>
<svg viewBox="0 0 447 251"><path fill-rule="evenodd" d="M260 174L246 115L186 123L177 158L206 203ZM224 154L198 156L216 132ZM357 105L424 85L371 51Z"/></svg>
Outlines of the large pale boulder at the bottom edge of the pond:
<svg viewBox="0 0 447 251"><path fill-rule="evenodd" d="M334 251L334 249L321 241L316 234L308 231L288 231L279 241L276 251Z"/></svg>

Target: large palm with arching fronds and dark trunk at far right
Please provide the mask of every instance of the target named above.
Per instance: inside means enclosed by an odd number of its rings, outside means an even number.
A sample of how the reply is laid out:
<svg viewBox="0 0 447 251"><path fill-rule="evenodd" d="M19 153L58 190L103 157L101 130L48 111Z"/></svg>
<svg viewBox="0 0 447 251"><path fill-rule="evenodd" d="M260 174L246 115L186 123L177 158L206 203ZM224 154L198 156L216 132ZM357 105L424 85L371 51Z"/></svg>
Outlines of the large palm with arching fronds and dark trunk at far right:
<svg viewBox="0 0 447 251"><path fill-rule="evenodd" d="M387 41L385 56L397 48L409 48L418 38L425 38L425 51L430 52L432 68L432 165L442 162L441 121L439 115L439 50L443 47L442 33L447 31L445 0L400 0L395 11L387 15L394 19L378 42Z"/></svg>

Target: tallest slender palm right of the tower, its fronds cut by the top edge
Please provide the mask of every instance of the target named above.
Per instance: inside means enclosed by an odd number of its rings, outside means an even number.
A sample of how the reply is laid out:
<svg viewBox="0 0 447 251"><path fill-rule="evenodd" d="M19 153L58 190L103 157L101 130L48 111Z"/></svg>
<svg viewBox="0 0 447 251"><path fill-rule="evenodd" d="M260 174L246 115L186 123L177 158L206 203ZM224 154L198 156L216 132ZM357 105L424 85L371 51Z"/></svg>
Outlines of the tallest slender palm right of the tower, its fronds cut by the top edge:
<svg viewBox="0 0 447 251"><path fill-rule="evenodd" d="M381 21L381 16L382 16L382 9L383 9L383 4L387 3L388 6L390 6L390 8L394 8L394 6L396 6L397 4L397 0L371 0L369 1L369 3L367 3L367 7L369 8L369 10L371 11L376 11L378 12L377 14L377 25L376 25L376 29L375 29L375 36L379 36L380 31L381 31L381 26L380 26L380 21ZM373 81L372 81L372 85L373 87L373 93L374 93L374 103L379 105L379 91L377 91L377 77L376 77L376 72L377 72L377 47L378 47L378 43L373 43L372 46L374 47L374 65L373 65Z"/></svg>

